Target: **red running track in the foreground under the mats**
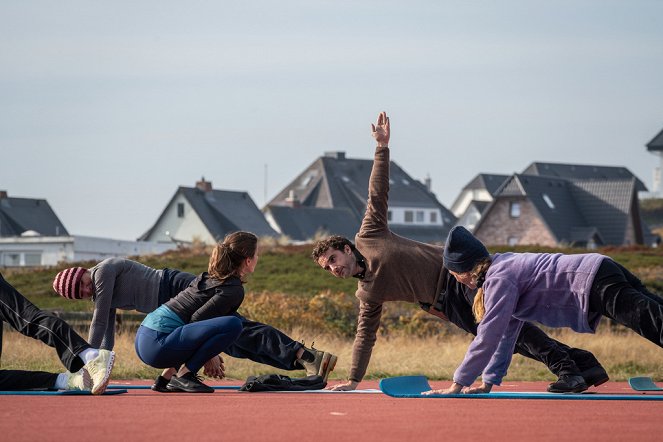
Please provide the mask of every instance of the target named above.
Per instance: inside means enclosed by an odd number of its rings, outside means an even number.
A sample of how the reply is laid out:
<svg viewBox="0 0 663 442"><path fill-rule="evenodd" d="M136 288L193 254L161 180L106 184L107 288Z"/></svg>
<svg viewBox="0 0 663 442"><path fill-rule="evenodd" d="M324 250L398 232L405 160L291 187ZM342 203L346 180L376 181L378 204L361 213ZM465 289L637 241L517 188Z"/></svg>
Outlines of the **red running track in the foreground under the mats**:
<svg viewBox="0 0 663 442"><path fill-rule="evenodd" d="M434 388L448 384L431 383ZM496 391L542 392L546 385L510 382ZM377 386L377 381L360 384L361 388ZM633 393L625 382L608 382L590 391ZM0 396L0 431L0 440L12 442L660 441L663 401L129 390L100 397Z"/></svg>

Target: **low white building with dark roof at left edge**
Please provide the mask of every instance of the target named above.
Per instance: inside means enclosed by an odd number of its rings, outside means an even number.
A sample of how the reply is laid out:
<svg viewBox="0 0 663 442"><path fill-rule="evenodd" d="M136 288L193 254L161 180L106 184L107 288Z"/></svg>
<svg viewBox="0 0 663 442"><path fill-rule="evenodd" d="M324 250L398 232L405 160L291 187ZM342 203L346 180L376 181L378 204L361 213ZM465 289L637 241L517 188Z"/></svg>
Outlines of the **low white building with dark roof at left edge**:
<svg viewBox="0 0 663 442"><path fill-rule="evenodd" d="M162 253L174 244L70 235L46 200L0 191L0 267L54 266Z"/></svg>

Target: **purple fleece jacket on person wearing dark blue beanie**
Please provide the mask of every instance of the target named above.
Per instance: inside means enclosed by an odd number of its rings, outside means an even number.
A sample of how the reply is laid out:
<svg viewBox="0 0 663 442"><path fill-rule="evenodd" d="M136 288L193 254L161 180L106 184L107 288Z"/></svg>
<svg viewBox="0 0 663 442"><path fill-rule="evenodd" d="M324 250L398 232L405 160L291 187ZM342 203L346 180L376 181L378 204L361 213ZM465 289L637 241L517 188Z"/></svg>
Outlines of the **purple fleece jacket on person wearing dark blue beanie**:
<svg viewBox="0 0 663 442"><path fill-rule="evenodd" d="M495 254L483 284L486 313L454 382L472 385L483 371L484 382L499 385L525 321L594 333L600 316L589 323L589 293L604 259L596 253Z"/></svg>

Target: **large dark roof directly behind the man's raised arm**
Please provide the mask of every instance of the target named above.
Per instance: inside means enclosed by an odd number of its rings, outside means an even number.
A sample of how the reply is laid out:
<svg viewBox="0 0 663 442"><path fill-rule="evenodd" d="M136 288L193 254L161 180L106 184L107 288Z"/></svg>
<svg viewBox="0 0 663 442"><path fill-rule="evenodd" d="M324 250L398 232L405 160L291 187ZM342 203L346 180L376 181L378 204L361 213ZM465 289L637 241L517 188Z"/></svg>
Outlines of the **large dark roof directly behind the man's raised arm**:
<svg viewBox="0 0 663 442"><path fill-rule="evenodd" d="M294 193L300 206L349 211L358 226L366 210L372 167L373 160L346 158L342 152L319 157L269 201L266 207L289 206L287 200ZM441 211L445 225L455 222L455 216L423 183L410 177L393 161L389 168L390 207L437 208ZM412 226L412 229L423 229L423 226ZM426 232L426 229L422 231Z"/></svg>

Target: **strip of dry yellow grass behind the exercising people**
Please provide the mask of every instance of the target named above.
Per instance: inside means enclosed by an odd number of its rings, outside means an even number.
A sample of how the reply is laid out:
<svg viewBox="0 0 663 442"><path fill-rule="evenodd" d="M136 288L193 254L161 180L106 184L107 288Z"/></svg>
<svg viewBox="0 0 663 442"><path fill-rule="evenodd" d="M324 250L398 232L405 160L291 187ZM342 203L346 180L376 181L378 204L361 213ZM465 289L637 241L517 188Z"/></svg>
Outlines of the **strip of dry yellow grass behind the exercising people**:
<svg viewBox="0 0 663 442"><path fill-rule="evenodd" d="M294 338L315 338L315 347L331 351L339 356L334 379L348 375L351 362L352 340L332 336L318 336L301 330L289 333ZM610 327L596 335L559 331L552 334L562 342L593 352L608 370L612 380L626 380L630 376L652 376L663 380L663 351L626 330L612 331ZM85 335L83 335L85 336ZM42 343L16 332L5 330L3 339L2 368L60 372L63 370L55 351ZM113 372L115 379L151 379L159 370L145 366L134 351L134 334L116 336L117 362ZM448 380L462 361L470 343L469 335L450 334L444 337L413 338L408 336L381 337L373 351L367 378L381 378L411 374L424 374L431 379ZM226 372L232 379L246 379L249 375L282 373L291 376L303 372L286 372L272 367L225 356ZM547 368L522 356L514 356L506 380L554 380Z"/></svg>

